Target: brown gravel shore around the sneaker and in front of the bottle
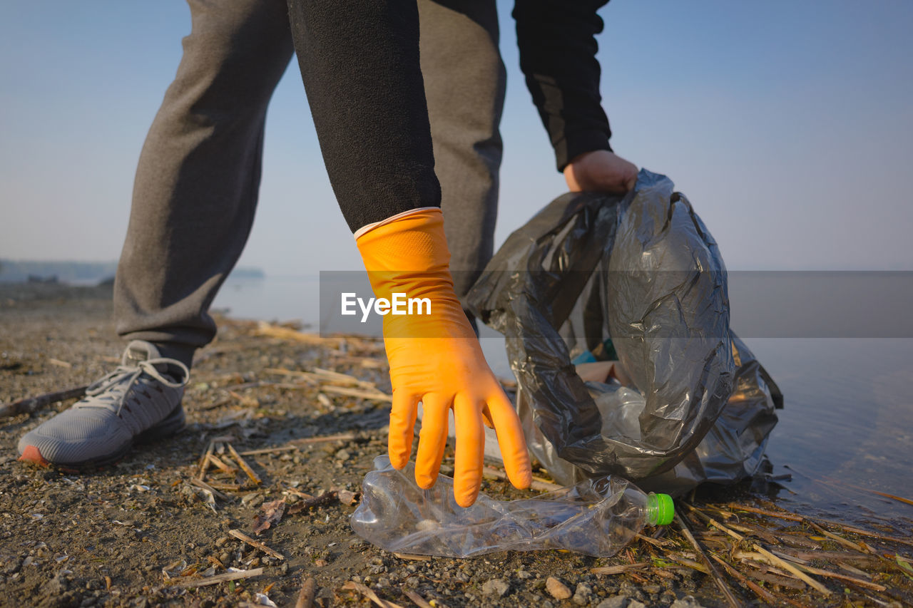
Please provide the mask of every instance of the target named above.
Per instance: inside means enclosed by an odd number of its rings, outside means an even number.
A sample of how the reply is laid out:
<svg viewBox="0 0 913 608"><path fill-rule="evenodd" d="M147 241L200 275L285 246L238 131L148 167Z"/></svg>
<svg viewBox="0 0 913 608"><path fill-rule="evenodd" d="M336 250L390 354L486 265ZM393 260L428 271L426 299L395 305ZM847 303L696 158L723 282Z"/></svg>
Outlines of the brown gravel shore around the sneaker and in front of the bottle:
<svg viewBox="0 0 913 608"><path fill-rule="evenodd" d="M18 438L72 400L0 421L0 605L293 605L308 578L320 606L370 605L362 592L343 589L349 582L404 606L415 605L404 589L451 607L727 605L707 575L676 564L639 574L590 572L650 561L645 542L612 559L548 551L415 560L373 547L349 527L355 505L346 491L359 491L385 450L388 404L300 384L296 372L351 373L389 392L382 345L284 341L257 335L252 322L219 322L218 339L194 363L184 398L188 427L157 445L136 446L116 465L76 475L16 461ZM110 322L110 288L0 285L0 328L0 403L89 383L112 369L123 346ZM276 369L287 372L269 371ZM342 436L326 439L332 435ZM207 471L207 482L226 494L213 510L191 479L207 446L228 462L227 451L219 454L228 444L242 454L283 449L243 456L260 484L242 472ZM448 449L442 472L452 466ZM331 491L338 494L306 507L306 496ZM483 491L529 496L500 480L486 480ZM280 498L285 517L255 535L257 515ZM229 535L234 529L284 559L237 540ZM228 568L263 571L183 585ZM762 604L734 590L740 601Z"/></svg>

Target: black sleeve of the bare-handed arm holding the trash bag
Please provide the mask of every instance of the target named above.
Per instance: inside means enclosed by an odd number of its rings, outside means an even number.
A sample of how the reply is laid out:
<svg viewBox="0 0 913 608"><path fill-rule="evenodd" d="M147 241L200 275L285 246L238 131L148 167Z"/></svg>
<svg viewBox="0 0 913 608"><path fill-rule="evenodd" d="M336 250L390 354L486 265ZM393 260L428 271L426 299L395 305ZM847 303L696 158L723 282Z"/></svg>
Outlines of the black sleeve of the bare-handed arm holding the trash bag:
<svg viewBox="0 0 913 608"><path fill-rule="evenodd" d="M519 65L551 145L558 171L575 156L612 150L599 93L596 11L608 0L517 0Z"/></svg>

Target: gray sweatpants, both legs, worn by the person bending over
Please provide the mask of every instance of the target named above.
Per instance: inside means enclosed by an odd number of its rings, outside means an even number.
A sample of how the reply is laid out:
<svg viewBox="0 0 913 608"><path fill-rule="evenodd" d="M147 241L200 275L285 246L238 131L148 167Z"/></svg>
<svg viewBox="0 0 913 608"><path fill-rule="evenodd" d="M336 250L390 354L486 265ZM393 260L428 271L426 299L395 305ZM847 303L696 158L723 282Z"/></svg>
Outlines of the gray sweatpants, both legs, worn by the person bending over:
<svg viewBox="0 0 913 608"><path fill-rule="evenodd" d="M267 106L293 47L285 0L188 4L184 57L140 155L114 316L122 337L156 342L189 365L215 337L208 309L247 243ZM491 0L418 6L435 172L462 297L494 245L506 80L498 17Z"/></svg>

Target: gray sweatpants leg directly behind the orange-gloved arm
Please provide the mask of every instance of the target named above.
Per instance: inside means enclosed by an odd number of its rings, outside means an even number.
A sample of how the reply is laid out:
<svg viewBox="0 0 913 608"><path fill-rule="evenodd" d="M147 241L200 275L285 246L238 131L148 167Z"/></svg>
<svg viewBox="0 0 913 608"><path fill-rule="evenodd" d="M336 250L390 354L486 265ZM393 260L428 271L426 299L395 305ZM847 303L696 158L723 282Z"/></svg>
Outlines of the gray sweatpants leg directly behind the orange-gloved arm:
<svg viewBox="0 0 913 608"><path fill-rule="evenodd" d="M422 76L454 290L466 296L494 247L507 74L488 0L419 0Z"/></svg>

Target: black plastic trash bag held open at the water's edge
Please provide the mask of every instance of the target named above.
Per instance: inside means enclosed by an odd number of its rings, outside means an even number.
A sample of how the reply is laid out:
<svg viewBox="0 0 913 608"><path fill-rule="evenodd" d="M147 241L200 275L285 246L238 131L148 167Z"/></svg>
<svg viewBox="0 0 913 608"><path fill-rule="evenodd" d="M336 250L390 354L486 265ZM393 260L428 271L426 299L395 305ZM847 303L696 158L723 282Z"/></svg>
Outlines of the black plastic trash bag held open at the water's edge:
<svg viewBox="0 0 913 608"><path fill-rule="evenodd" d="M761 465L782 396L729 330L726 267L664 175L565 194L514 232L467 306L504 334L530 452L552 477L681 493ZM614 347L629 386L572 363Z"/></svg>

